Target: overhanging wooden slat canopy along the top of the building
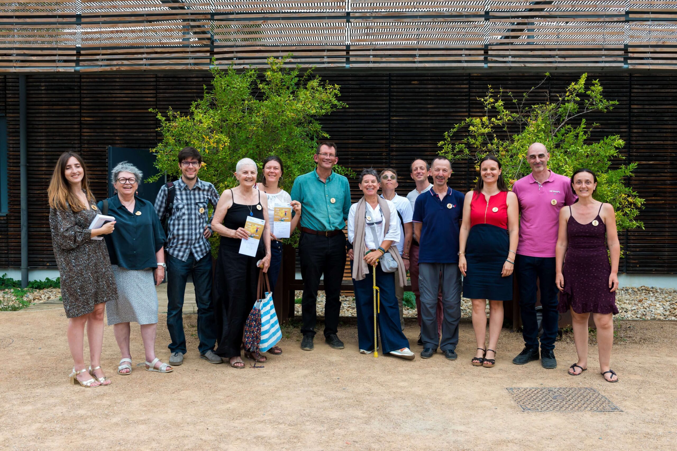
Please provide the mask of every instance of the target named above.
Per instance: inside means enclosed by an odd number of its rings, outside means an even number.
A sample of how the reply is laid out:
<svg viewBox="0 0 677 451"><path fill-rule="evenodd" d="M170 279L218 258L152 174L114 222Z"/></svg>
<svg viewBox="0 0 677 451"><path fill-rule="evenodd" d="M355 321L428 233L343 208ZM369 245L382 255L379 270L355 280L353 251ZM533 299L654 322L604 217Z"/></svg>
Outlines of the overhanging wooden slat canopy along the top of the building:
<svg viewBox="0 0 677 451"><path fill-rule="evenodd" d="M677 68L676 0L0 0L0 72Z"/></svg>

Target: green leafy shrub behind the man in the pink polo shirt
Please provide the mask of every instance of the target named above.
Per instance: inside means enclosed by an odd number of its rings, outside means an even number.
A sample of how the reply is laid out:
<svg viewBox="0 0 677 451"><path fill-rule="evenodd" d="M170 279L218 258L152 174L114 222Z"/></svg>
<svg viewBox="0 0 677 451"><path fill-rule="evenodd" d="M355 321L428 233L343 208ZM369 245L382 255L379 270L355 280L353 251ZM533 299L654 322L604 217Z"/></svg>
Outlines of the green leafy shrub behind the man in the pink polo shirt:
<svg viewBox="0 0 677 451"><path fill-rule="evenodd" d="M548 76L546 74L546 80ZM611 111L618 102L605 99L598 80L588 84L587 77L588 74L583 74L554 101L536 105L526 103L535 88L523 93L518 101L512 92L500 89L497 94L489 86L486 97L478 99L484 105L485 114L467 117L446 132L444 140L439 142L442 148L439 154L451 161L470 160L478 172L482 157L489 153L496 155L506 183L512 186L531 172L527 148L533 142L541 142L550 152L548 168L556 174L571 177L573 171L581 167L596 173L598 185L594 198L613 205L619 230L644 228L636 216L645 200L628 186L637 163L611 169L612 163L624 159L619 151L625 142L618 135L591 140L592 129L598 124L588 126L582 118L594 111Z"/></svg>

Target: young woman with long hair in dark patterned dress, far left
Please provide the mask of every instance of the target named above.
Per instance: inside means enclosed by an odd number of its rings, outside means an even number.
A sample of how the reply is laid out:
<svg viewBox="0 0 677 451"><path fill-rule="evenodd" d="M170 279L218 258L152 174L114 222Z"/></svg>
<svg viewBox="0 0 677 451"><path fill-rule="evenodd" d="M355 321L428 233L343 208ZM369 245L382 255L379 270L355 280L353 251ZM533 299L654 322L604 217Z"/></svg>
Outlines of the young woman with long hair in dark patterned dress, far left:
<svg viewBox="0 0 677 451"><path fill-rule="evenodd" d="M74 152L59 157L47 190L49 227L61 277L61 296L68 317L68 347L73 358L72 383L83 387L110 385L101 369L105 302L118 297L104 240L115 221L89 229L99 213L89 190L87 167ZM89 340L89 371L83 359L85 325Z"/></svg>

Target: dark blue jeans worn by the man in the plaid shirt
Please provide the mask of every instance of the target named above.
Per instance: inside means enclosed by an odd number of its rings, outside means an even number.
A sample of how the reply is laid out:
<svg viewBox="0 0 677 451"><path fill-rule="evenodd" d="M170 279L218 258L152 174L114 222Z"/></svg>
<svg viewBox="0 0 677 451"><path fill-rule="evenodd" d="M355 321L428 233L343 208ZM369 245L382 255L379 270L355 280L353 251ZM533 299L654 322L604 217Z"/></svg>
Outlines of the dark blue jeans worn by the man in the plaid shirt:
<svg viewBox="0 0 677 451"><path fill-rule="evenodd" d="M211 253L196 260L191 253L188 260L182 261L167 255L167 329L171 336L169 350L185 354L185 334L183 334L183 295L188 274L193 276L195 301L198 304L198 338L200 354L214 349L216 327L212 304L212 264Z"/></svg>

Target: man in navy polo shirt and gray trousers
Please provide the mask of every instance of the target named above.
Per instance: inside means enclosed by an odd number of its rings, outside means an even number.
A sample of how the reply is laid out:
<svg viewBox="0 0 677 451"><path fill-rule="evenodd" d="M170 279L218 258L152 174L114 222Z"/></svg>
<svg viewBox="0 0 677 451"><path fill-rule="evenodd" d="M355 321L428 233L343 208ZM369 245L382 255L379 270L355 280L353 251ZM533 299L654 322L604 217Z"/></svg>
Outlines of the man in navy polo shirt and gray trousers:
<svg viewBox="0 0 677 451"><path fill-rule="evenodd" d="M421 357L430 359L437 344L449 360L456 360L461 318L461 273L458 269L458 232L464 194L447 186L452 163L437 157L431 165L433 188L416 198L414 238L418 240L418 285L421 293ZM441 283L441 286L440 286ZM437 293L441 289L443 321L437 336Z"/></svg>

